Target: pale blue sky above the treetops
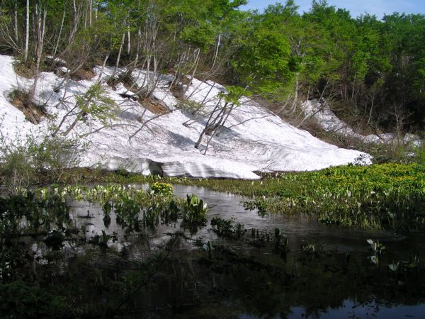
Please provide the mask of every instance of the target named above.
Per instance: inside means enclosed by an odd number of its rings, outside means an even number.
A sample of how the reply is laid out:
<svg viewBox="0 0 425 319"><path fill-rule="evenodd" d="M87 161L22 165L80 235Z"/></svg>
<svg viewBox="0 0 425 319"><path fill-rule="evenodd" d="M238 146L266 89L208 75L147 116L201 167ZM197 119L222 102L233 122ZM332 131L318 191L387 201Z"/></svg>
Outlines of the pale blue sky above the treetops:
<svg viewBox="0 0 425 319"><path fill-rule="evenodd" d="M269 4L281 2L285 4L285 0L248 0L246 6L242 6L242 10L259 9L260 12ZM356 18L362 13L375 14L377 18L382 18L384 13L422 13L425 14L425 0L328 0L330 6L343 8L350 11L351 16ZM295 4L300 6L300 13L309 11L311 0L295 0Z"/></svg>

